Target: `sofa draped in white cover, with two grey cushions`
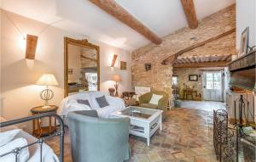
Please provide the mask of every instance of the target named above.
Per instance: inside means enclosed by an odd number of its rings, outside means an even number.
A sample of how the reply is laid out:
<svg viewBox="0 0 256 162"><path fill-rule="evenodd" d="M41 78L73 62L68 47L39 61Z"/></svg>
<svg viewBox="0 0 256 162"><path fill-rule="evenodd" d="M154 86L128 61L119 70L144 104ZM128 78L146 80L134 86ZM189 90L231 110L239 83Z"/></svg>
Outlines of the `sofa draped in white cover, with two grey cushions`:
<svg viewBox="0 0 256 162"><path fill-rule="evenodd" d="M104 108L100 108L99 104L96 102L96 98L102 97L103 95L106 97L109 105ZM78 103L78 99L87 99L90 103L90 107L85 104ZM111 97L106 92L79 92L62 100L60 109L58 109L58 114L67 116L67 113L70 111L90 109L95 109L101 118L110 118L113 112L125 109L125 103L123 99Z"/></svg>

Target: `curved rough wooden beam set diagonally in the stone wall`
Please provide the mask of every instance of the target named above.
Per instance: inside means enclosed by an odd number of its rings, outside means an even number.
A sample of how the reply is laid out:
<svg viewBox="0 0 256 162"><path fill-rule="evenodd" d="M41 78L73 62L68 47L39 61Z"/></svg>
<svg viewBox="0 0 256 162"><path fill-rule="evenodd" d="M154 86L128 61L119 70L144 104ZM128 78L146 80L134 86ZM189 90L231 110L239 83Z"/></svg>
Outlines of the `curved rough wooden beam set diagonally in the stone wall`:
<svg viewBox="0 0 256 162"><path fill-rule="evenodd" d="M178 51L177 53L172 54L168 58L164 59L162 64L173 64L174 61L177 59L177 57L180 56L181 54L187 53L187 52L189 52L189 51L191 51L191 50L193 50L193 49L195 49L197 47L202 47L205 44L207 44L209 42L212 42L212 41L215 41L215 40L218 40L221 37L228 36L228 35L230 35L231 33L235 32L235 31L236 31L236 28L231 29L230 31L225 31L224 33L219 34L218 36L213 36L210 39L207 39L206 41L196 43L196 44L194 44L194 45L192 45L190 47L186 47L186 48Z"/></svg>

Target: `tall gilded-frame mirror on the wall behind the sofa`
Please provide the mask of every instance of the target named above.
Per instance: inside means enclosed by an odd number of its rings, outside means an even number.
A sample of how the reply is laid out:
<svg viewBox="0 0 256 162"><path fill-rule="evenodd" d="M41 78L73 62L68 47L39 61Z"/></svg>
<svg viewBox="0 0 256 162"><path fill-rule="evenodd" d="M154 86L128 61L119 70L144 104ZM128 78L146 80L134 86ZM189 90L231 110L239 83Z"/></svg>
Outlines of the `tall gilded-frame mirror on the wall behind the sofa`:
<svg viewBox="0 0 256 162"><path fill-rule="evenodd" d="M87 40L65 37L65 97L74 92L100 89L99 47Z"/></svg>

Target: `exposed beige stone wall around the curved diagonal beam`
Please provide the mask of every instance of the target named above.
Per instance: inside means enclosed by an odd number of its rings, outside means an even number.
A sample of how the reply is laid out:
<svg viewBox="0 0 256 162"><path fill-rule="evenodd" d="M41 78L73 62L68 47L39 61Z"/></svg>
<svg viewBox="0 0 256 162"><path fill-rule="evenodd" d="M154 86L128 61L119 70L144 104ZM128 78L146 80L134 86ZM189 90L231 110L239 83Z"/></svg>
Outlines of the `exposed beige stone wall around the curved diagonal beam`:
<svg viewBox="0 0 256 162"><path fill-rule="evenodd" d="M175 23L175 22L173 22ZM228 8L220 10L216 14L212 14L199 22L198 28L190 30L188 27L182 28L168 36L162 38L160 45L150 43L144 47L134 50L131 54L131 77L132 86L147 86L153 90L166 91L171 93L172 89L172 64L163 65L161 62L168 56L177 53L185 47L189 47L195 43L203 42L212 36L217 36L225 31L230 31L236 27L236 6L232 5ZM191 39L193 37L193 39ZM234 36L230 36L231 39ZM221 40L223 42L221 42ZM223 44L221 47L202 47L203 54L218 53L234 53L234 43L226 42L226 39L218 40L217 44ZM231 45L229 45L231 44ZM201 48L201 47L200 47ZM201 50L198 48L197 50ZM192 51L193 53L193 51ZM188 52L186 54L191 54ZM151 70L146 71L144 64L150 63Z"/></svg>

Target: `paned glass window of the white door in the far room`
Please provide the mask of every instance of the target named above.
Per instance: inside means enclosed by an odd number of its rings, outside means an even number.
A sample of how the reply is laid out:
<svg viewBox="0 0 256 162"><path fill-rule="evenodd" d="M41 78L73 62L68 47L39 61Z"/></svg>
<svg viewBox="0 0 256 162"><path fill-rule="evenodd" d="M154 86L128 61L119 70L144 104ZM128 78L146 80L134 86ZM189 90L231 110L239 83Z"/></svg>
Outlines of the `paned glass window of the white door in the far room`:
<svg viewBox="0 0 256 162"><path fill-rule="evenodd" d="M221 74L207 73L207 89L219 90L221 88Z"/></svg>

